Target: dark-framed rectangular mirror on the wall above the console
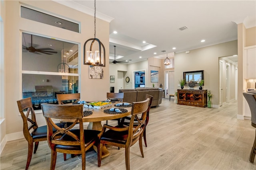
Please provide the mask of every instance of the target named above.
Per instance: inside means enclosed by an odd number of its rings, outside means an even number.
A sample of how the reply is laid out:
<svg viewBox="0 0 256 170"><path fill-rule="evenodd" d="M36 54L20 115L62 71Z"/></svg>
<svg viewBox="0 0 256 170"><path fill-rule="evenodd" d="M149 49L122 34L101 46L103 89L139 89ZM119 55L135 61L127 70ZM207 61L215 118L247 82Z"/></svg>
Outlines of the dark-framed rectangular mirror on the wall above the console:
<svg viewBox="0 0 256 170"><path fill-rule="evenodd" d="M204 70L183 72L183 79L185 80L185 84L194 81L198 85L199 81L204 80Z"/></svg>

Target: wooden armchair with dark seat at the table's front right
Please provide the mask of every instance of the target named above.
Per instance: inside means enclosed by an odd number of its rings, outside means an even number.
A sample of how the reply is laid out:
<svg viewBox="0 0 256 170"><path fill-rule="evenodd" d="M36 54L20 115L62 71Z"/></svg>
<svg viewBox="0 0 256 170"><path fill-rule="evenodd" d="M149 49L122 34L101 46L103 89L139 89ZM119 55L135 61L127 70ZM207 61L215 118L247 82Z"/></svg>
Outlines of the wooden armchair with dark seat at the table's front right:
<svg viewBox="0 0 256 170"><path fill-rule="evenodd" d="M103 125L103 129L100 132L99 139L100 151L98 152L98 166L101 165L102 146L112 145L116 147L125 148L125 164L126 170L130 170L130 147L139 141L140 152L144 158L142 148L142 135L144 131L144 124L146 121L146 114L148 109L149 98L141 102L132 103L131 121L129 126L117 125L115 127L110 125ZM140 119L138 114L142 114ZM134 120L138 121L138 125L134 128ZM106 131L106 129L109 129Z"/></svg>

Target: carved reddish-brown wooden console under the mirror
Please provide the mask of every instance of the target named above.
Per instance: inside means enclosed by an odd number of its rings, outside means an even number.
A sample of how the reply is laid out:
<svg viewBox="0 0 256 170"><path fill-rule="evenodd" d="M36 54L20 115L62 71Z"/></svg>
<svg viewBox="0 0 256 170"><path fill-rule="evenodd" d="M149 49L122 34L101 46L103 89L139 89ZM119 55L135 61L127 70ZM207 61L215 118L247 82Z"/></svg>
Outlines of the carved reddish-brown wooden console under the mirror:
<svg viewBox="0 0 256 170"><path fill-rule="evenodd" d="M177 90L178 92L178 104L196 107L207 106L207 90Z"/></svg>

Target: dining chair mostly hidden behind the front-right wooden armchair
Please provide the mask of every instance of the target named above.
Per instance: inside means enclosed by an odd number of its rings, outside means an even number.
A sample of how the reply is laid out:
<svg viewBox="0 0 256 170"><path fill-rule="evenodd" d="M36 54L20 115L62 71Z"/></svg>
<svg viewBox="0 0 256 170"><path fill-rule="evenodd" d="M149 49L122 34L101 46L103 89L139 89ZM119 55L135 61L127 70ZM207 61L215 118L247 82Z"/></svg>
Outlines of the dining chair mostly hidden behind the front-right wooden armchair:
<svg viewBox="0 0 256 170"><path fill-rule="evenodd" d="M146 121L145 121L145 125L144 125L145 127L144 127L144 131L143 131L143 139L144 139L144 143L145 143L146 147L148 147L147 139L146 139L146 126L148 125L148 121L149 121L149 110L150 110L150 107L151 107L151 104L152 104L153 96L151 96L149 94L146 94L146 99L147 98L149 98L149 102L148 102ZM140 119L142 119L142 118L140 118ZM121 124L129 125L130 120L131 120L131 116L122 117ZM138 122L136 120L134 120L134 124L133 125L137 126L137 124L138 124Z"/></svg>

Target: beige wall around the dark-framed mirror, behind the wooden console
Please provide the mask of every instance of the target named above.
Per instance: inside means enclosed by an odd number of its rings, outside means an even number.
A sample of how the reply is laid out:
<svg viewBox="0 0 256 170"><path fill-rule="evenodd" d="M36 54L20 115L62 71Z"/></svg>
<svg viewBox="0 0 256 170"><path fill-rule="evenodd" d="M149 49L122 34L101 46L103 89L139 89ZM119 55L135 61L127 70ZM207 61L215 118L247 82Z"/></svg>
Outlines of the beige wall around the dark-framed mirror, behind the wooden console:
<svg viewBox="0 0 256 170"><path fill-rule="evenodd" d="M219 57L232 56L237 54L237 41L230 41L200 49L190 50L190 53L176 53L174 84L178 87L178 80L183 79L183 72L204 70L203 89L211 90L212 105L219 104ZM232 74L232 73L231 73ZM185 86L184 89L189 89Z"/></svg>

